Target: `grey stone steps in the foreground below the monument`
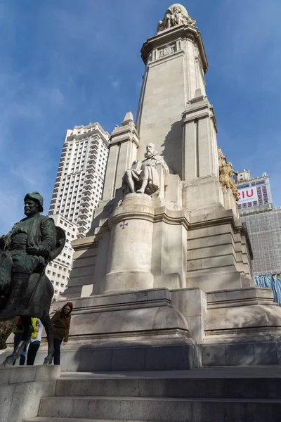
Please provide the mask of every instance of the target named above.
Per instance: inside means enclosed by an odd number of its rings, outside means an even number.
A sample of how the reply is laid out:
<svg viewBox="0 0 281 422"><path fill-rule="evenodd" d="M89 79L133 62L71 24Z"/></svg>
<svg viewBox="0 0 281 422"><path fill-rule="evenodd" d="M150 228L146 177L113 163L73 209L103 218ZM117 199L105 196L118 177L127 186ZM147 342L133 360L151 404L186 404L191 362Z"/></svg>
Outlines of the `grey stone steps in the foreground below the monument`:
<svg viewBox="0 0 281 422"><path fill-rule="evenodd" d="M279 422L281 368L63 373L24 422Z"/></svg>

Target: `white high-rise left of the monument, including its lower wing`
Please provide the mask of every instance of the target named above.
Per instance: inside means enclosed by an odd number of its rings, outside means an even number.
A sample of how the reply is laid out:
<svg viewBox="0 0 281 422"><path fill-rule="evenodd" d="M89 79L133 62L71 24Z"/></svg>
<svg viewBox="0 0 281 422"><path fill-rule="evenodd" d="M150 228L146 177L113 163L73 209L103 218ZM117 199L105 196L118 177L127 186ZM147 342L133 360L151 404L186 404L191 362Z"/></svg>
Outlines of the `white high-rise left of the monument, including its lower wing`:
<svg viewBox="0 0 281 422"><path fill-rule="evenodd" d="M63 252L47 267L55 298L67 286L74 238L86 236L103 193L110 135L98 123L67 130L49 215L65 230Z"/></svg>

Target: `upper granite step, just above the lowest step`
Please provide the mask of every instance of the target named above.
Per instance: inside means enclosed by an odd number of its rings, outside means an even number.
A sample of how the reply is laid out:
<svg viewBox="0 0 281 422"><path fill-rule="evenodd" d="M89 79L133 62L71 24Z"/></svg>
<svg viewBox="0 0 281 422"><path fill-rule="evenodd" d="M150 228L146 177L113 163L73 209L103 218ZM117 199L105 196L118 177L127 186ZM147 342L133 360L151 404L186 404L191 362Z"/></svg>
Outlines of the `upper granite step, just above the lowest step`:
<svg viewBox="0 0 281 422"><path fill-rule="evenodd" d="M59 379L55 396L281 399L281 378L98 379L76 376Z"/></svg>

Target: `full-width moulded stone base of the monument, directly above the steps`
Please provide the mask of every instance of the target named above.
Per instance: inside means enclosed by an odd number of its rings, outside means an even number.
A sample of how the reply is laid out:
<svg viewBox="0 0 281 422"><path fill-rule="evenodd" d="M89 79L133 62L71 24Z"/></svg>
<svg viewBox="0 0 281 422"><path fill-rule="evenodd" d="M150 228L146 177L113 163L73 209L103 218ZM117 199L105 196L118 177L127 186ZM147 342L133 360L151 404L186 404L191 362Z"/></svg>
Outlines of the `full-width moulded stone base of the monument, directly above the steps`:
<svg viewBox="0 0 281 422"><path fill-rule="evenodd" d="M127 290L72 302L63 371L281 364L281 308L267 288Z"/></svg>

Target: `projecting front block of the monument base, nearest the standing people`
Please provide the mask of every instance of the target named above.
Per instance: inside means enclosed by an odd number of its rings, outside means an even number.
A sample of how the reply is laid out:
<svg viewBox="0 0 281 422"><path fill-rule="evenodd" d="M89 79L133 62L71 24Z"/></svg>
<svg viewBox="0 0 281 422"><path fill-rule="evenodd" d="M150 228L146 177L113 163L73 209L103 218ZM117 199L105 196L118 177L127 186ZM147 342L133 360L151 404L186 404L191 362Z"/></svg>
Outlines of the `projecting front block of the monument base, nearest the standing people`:
<svg viewBox="0 0 281 422"><path fill-rule="evenodd" d="M191 369L200 348L166 288L73 300L63 371ZM56 302L55 307L60 307ZM65 359L66 358L66 359Z"/></svg>

